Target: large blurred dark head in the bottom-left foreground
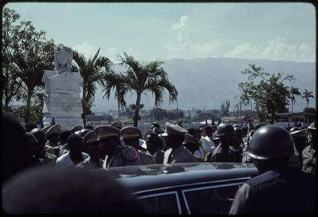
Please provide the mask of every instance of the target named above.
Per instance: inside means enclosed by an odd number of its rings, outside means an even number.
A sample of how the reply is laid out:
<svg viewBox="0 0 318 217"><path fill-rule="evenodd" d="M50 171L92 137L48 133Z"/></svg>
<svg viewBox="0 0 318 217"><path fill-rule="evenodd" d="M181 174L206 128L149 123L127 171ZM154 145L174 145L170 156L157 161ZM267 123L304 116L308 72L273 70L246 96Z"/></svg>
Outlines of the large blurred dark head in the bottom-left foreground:
<svg viewBox="0 0 318 217"><path fill-rule="evenodd" d="M150 210L114 173L103 169L26 170L6 185L2 196L8 214L149 214Z"/></svg>

